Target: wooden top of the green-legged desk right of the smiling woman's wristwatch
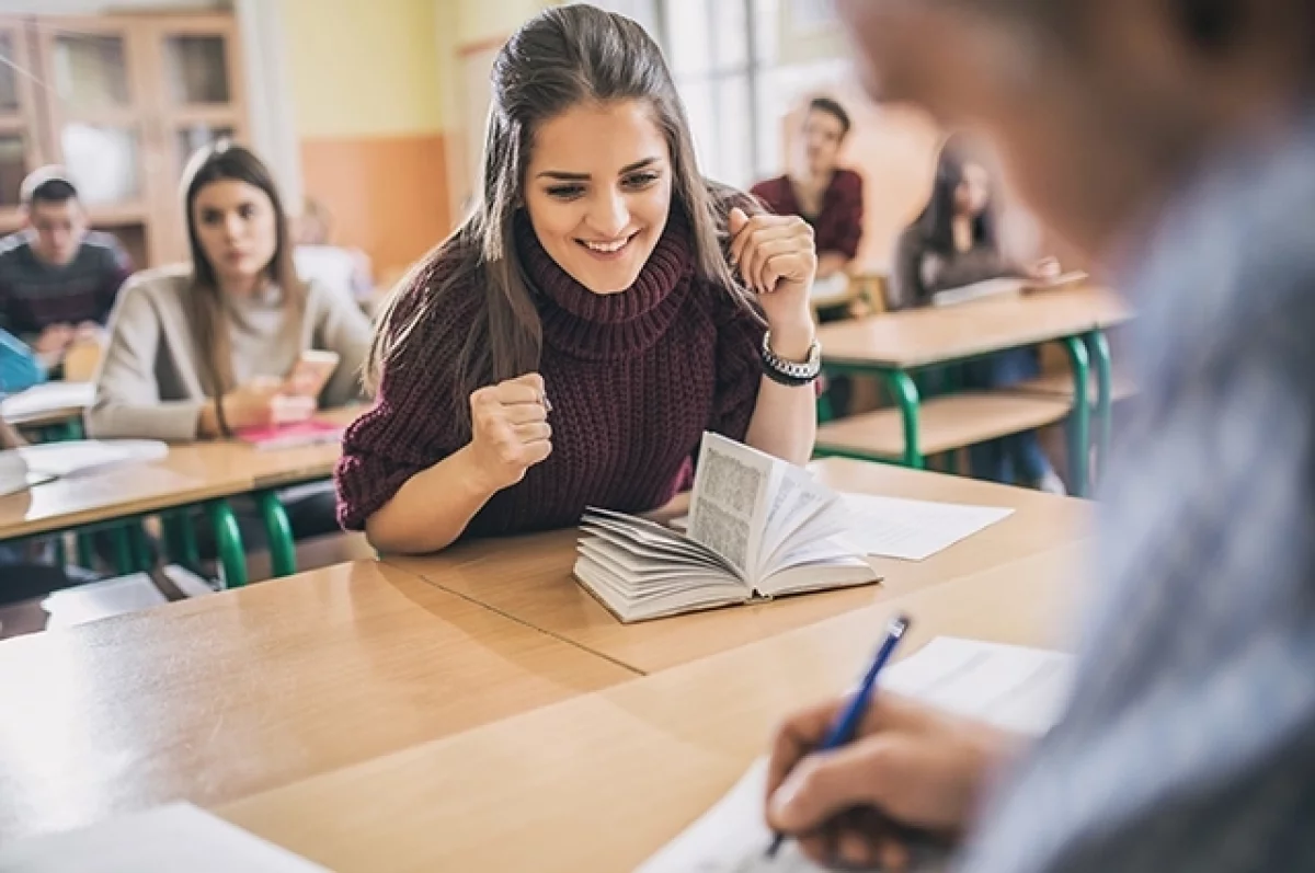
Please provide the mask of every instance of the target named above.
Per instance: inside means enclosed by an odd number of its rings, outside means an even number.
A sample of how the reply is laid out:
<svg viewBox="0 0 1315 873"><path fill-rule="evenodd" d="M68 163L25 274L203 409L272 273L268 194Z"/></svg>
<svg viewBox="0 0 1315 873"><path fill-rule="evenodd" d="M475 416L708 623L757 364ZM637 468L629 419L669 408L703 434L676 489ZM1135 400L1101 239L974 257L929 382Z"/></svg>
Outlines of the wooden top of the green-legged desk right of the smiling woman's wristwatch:
<svg viewBox="0 0 1315 873"><path fill-rule="evenodd" d="M818 341L827 363L914 368L1072 337L1130 317L1112 292L1077 288L835 322L818 329Z"/></svg>

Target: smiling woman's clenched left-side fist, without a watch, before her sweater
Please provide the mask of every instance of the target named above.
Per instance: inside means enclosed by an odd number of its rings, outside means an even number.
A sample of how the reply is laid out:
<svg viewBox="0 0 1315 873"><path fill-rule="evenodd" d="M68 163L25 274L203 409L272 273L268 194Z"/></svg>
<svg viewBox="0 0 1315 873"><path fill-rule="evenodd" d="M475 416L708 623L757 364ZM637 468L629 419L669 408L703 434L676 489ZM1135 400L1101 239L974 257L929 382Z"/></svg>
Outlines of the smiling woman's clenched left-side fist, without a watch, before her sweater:
<svg viewBox="0 0 1315 873"><path fill-rule="evenodd" d="M471 394L471 456L489 490L515 485L552 452L548 409L539 373Z"/></svg>

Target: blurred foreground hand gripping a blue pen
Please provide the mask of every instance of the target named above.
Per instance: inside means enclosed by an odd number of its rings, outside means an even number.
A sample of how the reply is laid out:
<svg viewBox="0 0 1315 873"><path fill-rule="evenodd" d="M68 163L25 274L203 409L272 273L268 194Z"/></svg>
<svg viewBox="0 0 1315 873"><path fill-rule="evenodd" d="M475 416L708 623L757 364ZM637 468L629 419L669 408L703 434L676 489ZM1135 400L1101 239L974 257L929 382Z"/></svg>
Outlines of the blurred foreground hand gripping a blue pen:
<svg viewBox="0 0 1315 873"><path fill-rule="evenodd" d="M880 694L859 736L835 752L810 755L844 699L793 715L777 731L767 776L767 820L797 836L818 864L909 865L909 847L890 822L959 835L982 788L1015 740L977 722Z"/></svg>

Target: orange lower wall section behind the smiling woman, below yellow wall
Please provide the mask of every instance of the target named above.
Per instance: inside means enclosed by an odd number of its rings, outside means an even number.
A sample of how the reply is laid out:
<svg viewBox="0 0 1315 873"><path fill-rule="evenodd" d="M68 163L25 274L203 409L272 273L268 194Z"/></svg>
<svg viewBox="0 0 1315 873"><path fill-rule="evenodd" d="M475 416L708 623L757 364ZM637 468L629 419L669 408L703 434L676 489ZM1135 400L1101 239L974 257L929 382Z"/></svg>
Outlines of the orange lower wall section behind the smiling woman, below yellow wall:
<svg viewBox="0 0 1315 873"><path fill-rule="evenodd" d="M301 170L334 218L333 241L363 248L381 281L451 230L442 133L302 139Z"/></svg>

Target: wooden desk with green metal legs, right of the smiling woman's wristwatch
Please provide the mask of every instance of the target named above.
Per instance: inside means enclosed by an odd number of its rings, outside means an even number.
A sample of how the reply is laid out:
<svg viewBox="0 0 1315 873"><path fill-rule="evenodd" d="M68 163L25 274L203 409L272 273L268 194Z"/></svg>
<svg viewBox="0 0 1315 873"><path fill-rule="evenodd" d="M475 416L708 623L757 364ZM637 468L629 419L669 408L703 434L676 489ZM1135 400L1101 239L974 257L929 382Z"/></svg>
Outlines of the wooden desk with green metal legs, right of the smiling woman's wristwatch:
<svg viewBox="0 0 1315 873"><path fill-rule="evenodd" d="M1131 310L1111 292L1084 287L982 300L944 309L911 309L818 329L828 369L874 373L886 379L905 421L903 463L922 467L917 439L919 392L910 372L992 352L1064 343L1073 367L1074 404L1069 429L1073 490L1088 492L1090 409L1086 384L1090 364L1098 383L1095 417L1102 450L1109 440L1110 348L1107 327L1131 318Z"/></svg>

